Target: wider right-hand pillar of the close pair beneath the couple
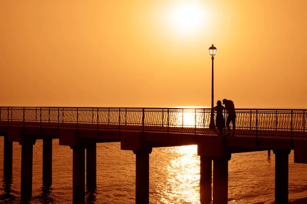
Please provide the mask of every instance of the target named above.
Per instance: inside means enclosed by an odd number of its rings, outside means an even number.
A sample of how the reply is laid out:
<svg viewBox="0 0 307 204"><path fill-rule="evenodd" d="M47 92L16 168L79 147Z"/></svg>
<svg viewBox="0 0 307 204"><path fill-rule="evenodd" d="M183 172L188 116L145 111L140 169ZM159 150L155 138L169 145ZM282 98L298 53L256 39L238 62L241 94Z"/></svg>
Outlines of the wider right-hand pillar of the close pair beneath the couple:
<svg viewBox="0 0 307 204"><path fill-rule="evenodd" d="M228 203L228 161L231 154L213 158L213 204Z"/></svg>

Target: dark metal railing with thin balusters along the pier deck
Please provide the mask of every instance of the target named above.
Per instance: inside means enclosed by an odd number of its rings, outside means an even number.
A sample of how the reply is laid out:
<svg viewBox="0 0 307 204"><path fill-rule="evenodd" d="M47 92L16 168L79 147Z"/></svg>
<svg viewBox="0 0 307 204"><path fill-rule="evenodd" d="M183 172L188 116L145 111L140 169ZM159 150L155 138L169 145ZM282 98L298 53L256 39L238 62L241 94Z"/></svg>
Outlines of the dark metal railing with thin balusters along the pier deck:
<svg viewBox="0 0 307 204"><path fill-rule="evenodd" d="M216 133L209 129L210 113L205 108L0 107L0 124ZM307 137L306 127L306 109L236 109L236 134Z"/></svg>

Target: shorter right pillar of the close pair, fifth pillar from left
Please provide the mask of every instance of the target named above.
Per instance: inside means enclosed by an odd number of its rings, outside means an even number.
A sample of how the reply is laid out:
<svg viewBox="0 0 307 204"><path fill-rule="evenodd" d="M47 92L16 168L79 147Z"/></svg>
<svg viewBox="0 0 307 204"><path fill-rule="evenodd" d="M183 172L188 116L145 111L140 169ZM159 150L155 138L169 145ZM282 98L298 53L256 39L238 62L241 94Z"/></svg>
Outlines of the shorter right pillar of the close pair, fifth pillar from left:
<svg viewBox="0 0 307 204"><path fill-rule="evenodd" d="M96 190L96 142L86 147L86 188L89 191Z"/></svg>

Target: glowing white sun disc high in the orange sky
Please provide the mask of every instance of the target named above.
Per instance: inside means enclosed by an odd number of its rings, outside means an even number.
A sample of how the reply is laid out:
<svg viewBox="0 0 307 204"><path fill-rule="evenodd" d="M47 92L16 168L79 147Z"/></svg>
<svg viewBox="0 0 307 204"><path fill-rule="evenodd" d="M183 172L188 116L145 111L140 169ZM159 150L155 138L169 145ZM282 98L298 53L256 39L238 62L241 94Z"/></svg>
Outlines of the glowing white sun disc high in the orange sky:
<svg viewBox="0 0 307 204"><path fill-rule="evenodd" d="M168 22L181 34L197 33L206 25L206 12L199 3L175 5L168 12Z"/></svg>

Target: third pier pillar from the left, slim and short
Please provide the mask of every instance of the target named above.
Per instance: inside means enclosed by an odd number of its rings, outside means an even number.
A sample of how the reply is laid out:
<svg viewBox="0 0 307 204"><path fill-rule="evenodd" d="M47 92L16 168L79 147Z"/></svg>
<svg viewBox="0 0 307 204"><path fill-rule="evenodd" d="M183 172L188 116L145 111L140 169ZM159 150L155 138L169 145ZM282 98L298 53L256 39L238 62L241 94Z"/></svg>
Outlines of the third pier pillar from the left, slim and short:
<svg viewBox="0 0 307 204"><path fill-rule="evenodd" d="M42 140L42 185L52 184L52 139Z"/></svg>

